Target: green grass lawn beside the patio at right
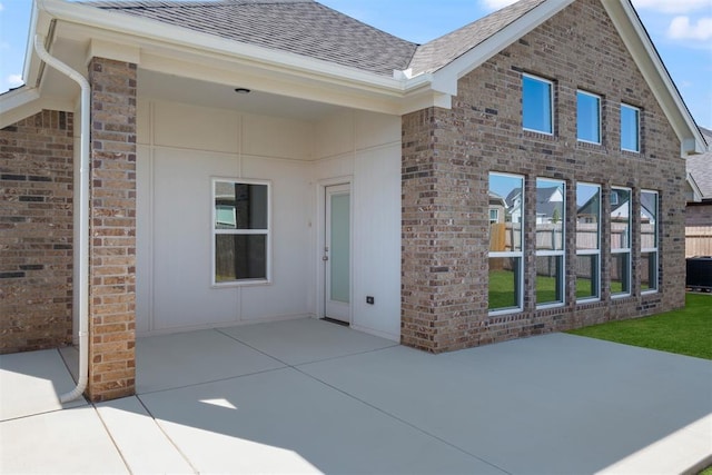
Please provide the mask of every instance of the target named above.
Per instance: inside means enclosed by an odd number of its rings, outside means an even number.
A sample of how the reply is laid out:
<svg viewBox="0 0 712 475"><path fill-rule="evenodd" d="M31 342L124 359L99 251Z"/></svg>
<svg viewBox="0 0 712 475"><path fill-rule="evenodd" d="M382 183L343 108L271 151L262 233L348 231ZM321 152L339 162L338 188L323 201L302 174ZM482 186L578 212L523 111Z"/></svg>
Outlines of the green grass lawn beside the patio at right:
<svg viewBox="0 0 712 475"><path fill-rule="evenodd" d="M688 294L680 310L568 333L712 359L712 295Z"/></svg>

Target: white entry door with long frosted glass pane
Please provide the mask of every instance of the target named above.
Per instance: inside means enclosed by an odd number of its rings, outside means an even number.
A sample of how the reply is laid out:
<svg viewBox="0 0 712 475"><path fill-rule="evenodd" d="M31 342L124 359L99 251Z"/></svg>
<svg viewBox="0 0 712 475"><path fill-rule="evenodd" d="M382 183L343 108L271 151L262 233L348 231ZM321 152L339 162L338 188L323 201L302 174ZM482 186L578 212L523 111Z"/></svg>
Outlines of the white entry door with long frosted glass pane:
<svg viewBox="0 0 712 475"><path fill-rule="evenodd" d="M328 186L325 190L324 316L350 323L350 186Z"/></svg>

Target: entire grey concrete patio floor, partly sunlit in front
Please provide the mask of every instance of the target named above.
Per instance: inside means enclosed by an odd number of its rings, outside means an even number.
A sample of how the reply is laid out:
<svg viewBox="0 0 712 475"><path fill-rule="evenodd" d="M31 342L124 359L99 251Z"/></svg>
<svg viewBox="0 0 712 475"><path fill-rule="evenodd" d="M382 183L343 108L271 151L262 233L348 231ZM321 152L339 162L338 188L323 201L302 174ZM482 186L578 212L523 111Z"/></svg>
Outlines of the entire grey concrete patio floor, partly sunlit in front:
<svg viewBox="0 0 712 475"><path fill-rule="evenodd" d="M431 355L299 319L138 338L137 363L136 396L62 408L72 348L1 356L0 469L651 474L712 454L710 362L564 334Z"/></svg>

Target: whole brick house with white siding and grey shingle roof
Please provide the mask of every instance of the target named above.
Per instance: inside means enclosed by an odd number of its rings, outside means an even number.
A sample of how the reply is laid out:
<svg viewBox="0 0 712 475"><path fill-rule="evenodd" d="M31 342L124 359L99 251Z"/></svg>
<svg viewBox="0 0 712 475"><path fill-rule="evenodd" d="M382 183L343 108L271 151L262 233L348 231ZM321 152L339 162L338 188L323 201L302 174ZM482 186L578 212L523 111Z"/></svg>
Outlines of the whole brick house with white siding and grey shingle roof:
<svg viewBox="0 0 712 475"><path fill-rule="evenodd" d="M426 44L312 0L33 8L2 352L87 338L93 400L134 392L137 335L329 317L441 353L684 304L706 145L627 0Z"/></svg>

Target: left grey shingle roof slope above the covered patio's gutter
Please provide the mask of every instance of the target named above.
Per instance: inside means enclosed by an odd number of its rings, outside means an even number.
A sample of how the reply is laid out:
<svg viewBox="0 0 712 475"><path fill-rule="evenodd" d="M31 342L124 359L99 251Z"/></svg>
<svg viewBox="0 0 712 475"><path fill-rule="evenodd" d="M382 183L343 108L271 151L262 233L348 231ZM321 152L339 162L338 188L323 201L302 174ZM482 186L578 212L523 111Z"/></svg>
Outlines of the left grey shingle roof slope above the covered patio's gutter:
<svg viewBox="0 0 712 475"><path fill-rule="evenodd" d="M417 48L314 0L88 1L235 41L393 77Z"/></svg>

